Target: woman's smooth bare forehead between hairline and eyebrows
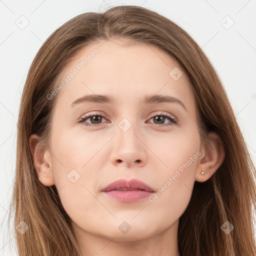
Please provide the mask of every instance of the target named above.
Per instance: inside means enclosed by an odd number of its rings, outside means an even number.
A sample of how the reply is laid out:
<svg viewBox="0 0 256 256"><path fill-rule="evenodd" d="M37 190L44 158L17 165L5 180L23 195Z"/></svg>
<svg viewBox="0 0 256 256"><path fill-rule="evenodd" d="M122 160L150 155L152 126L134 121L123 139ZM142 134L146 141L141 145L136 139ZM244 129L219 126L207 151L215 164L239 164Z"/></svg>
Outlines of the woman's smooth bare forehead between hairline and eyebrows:
<svg viewBox="0 0 256 256"><path fill-rule="evenodd" d="M80 49L61 72L60 83L57 101L62 107L86 94L113 95L118 104L157 93L194 103L189 80L174 58L151 44L126 39Z"/></svg>

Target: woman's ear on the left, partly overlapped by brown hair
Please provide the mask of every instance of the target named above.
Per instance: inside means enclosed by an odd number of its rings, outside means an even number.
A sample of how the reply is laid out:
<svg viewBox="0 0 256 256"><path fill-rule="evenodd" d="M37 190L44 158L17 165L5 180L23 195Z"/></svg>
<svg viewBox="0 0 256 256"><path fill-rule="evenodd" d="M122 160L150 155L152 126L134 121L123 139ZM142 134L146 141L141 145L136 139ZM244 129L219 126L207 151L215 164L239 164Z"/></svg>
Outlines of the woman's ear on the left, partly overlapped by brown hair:
<svg viewBox="0 0 256 256"><path fill-rule="evenodd" d="M55 184L52 172L51 155L39 141L40 137L38 135L30 135L29 147L33 156L33 164L39 181L45 186L51 186Z"/></svg>

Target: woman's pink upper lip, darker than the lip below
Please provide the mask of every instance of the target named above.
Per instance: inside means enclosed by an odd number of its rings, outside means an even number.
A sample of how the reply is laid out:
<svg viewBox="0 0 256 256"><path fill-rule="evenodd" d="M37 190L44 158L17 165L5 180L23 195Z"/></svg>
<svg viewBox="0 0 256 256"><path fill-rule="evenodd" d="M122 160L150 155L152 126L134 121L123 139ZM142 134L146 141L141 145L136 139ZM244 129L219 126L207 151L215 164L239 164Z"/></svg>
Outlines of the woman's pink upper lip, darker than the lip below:
<svg viewBox="0 0 256 256"><path fill-rule="evenodd" d="M116 190L118 188L133 188L134 190L140 189L140 190L145 190L149 192L154 192L154 190L147 185L146 183L142 182L141 180L138 179L117 179L114 182L110 183L109 185L105 186L102 191L110 191L110 190Z"/></svg>

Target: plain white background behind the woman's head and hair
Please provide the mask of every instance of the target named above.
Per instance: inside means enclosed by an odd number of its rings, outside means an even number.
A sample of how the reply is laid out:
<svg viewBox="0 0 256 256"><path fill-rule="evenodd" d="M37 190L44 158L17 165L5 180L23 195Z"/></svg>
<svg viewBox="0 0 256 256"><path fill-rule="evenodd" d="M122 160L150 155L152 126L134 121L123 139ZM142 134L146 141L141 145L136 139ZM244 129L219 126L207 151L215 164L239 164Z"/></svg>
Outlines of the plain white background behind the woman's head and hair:
<svg viewBox="0 0 256 256"><path fill-rule="evenodd" d="M32 59L43 41L68 19L123 4L142 5L168 17L202 47L223 82L256 162L255 0L0 0L0 255L16 255L10 251L14 238L7 236L6 220L15 170L19 103ZM18 22L20 26L29 24L20 29ZM231 22L234 24L226 29Z"/></svg>

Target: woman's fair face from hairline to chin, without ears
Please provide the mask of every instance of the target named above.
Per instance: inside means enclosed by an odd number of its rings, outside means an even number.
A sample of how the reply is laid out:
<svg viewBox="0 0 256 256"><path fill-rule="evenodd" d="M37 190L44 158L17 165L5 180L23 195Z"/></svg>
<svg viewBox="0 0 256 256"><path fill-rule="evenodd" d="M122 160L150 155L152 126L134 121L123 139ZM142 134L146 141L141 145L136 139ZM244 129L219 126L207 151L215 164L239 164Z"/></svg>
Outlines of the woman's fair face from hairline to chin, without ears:
<svg viewBox="0 0 256 256"><path fill-rule="evenodd" d="M74 229L119 241L176 230L201 150L182 72L161 49L123 39L91 43L62 72L47 96L57 96L50 165ZM90 100L78 100L84 96ZM118 179L140 180L154 192L102 191Z"/></svg>

